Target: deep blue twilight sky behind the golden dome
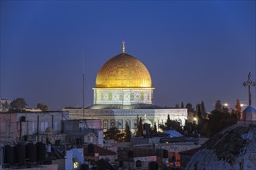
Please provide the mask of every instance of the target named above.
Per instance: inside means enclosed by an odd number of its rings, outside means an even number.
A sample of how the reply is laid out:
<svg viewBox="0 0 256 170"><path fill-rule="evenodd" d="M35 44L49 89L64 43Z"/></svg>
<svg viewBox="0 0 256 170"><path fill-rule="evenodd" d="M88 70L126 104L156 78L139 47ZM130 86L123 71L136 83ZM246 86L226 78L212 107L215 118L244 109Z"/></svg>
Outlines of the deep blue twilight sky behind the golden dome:
<svg viewBox="0 0 256 170"><path fill-rule="evenodd" d="M159 106L248 103L255 1L1 1L1 98L50 110L93 104L95 78L125 52L147 66ZM255 87L253 88L255 106Z"/></svg>

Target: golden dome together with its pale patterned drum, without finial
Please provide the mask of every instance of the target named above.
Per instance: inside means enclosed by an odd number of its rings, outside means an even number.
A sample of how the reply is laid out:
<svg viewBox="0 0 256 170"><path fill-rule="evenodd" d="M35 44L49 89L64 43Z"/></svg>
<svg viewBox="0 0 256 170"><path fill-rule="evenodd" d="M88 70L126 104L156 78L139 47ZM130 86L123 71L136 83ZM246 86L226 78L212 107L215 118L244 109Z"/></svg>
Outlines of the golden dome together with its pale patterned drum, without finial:
<svg viewBox="0 0 256 170"><path fill-rule="evenodd" d="M152 104L151 76L144 64L121 53L104 63L96 77L94 104Z"/></svg>

